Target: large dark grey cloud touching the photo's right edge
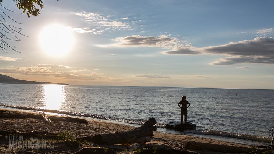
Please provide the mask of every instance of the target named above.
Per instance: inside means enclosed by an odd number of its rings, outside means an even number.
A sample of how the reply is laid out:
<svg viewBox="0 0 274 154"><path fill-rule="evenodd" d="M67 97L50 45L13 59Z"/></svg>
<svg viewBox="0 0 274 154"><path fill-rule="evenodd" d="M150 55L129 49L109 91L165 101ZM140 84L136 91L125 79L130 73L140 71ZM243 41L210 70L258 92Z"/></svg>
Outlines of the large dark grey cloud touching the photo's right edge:
<svg viewBox="0 0 274 154"><path fill-rule="evenodd" d="M253 40L243 40L239 42L230 42L220 46L209 46L197 48L193 46L179 45L174 46L166 54L215 54L230 56L219 58L213 65L233 65L237 63L261 63L274 64L274 38L257 37Z"/></svg>

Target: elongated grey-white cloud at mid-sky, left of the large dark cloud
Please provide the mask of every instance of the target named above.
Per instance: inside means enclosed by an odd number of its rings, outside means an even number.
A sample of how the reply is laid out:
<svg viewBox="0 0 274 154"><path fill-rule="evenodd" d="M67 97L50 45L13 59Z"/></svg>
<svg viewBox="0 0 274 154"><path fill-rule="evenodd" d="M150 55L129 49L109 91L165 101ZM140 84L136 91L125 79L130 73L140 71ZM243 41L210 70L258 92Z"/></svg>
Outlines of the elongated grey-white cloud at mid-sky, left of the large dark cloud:
<svg viewBox="0 0 274 154"><path fill-rule="evenodd" d="M115 40L119 42L118 44L116 44L118 46L161 48L172 48L174 47L174 45L179 45L180 42L183 42L177 38L170 38L167 35L161 35L159 37L132 35L126 37L118 37Z"/></svg>

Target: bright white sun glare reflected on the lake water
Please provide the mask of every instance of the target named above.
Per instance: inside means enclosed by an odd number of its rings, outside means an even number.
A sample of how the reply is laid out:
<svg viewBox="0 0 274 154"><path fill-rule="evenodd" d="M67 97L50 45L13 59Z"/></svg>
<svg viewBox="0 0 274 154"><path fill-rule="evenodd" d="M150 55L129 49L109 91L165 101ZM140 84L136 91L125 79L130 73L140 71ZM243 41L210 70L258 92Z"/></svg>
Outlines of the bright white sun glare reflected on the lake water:
<svg viewBox="0 0 274 154"><path fill-rule="evenodd" d="M43 85L41 100L44 102L42 109L59 110L66 101L65 85Z"/></svg>

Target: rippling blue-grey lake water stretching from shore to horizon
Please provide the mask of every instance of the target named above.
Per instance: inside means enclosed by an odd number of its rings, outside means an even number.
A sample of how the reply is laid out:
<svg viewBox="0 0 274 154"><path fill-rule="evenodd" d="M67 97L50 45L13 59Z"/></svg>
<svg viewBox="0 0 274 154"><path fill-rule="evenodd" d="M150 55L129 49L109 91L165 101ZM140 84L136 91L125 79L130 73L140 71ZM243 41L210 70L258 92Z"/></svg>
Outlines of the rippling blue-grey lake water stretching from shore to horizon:
<svg viewBox="0 0 274 154"><path fill-rule="evenodd" d="M191 104L188 122L196 124L195 131L163 128L180 121L177 104L182 95ZM271 142L265 126L274 126L274 90L0 84L0 104L127 124L154 117L158 130L165 133L236 138L234 142Z"/></svg>

